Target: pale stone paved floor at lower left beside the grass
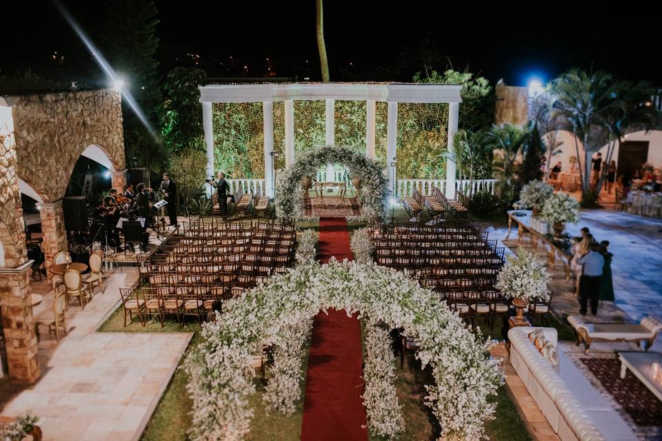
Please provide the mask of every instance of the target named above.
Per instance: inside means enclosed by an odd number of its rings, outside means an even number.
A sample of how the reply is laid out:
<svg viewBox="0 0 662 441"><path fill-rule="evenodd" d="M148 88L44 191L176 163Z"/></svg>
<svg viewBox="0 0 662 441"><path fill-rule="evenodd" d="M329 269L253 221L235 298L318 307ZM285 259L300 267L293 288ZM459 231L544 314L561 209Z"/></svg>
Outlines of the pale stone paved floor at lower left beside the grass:
<svg viewBox="0 0 662 441"><path fill-rule="evenodd" d="M117 305L119 287L135 280L137 269L124 268L83 311L72 303L70 334L59 344L48 335L39 343L41 380L0 413L30 409L41 417L44 440L138 440L192 334L96 332ZM36 314L50 305L52 294Z"/></svg>

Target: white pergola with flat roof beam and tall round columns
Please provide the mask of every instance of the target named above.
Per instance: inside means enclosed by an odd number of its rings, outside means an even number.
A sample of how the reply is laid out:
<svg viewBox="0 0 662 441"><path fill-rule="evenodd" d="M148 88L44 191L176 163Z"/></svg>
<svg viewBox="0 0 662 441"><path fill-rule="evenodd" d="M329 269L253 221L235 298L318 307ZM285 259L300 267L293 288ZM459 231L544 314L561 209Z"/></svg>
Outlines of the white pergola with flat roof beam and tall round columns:
<svg viewBox="0 0 662 441"><path fill-rule="evenodd" d="M374 158L375 103L388 103L386 158L390 188L396 176L398 103L448 103L448 148L457 132L461 85L410 83L289 83L205 85L200 87L208 174L214 174L212 103L263 103L265 193L273 196L274 101L285 102L285 166L294 162L294 100L324 100L326 143L334 145L334 101L366 101L365 155ZM454 198L455 163L446 160L446 197Z"/></svg>

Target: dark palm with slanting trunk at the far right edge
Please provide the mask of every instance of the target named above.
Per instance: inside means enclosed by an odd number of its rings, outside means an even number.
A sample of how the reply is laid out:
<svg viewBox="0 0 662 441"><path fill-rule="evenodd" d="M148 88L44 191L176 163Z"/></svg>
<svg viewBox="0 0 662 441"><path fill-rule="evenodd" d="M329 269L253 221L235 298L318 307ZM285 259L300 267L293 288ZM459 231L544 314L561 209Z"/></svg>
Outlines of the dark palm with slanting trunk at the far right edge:
<svg viewBox="0 0 662 441"><path fill-rule="evenodd" d="M621 81L614 90L616 105L604 112L602 120L610 132L610 142L605 155L605 164L612 161L616 145L621 150L621 143L625 134L636 130L649 130L658 127L662 121L662 114L650 103L650 97L656 89L645 81L634 83ZM598 182L598 189L602 188L608 167L602 168Z"/></svg>

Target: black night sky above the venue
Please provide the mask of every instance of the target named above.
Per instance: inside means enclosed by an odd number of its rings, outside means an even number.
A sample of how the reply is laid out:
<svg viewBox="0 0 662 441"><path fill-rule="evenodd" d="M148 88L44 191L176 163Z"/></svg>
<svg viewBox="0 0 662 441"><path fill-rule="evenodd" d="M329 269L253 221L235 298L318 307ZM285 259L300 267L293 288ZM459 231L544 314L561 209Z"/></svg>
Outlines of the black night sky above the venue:
<svg viewBox="0 0 662 441"><path fill-rule="evenodd" d="M99 3L63 3L94 38L103 21ZM659 31L646 14L650 3L628 2L625 10L559 1L449 3L326 0L332 81L408 81L425 65L443 70L450 61L456 70L469 68L511 85L525 85L532 75L547 81L572 66L662 85ZM189 53L201 57L199 67L209 76L236 76L246 65L250 76L263 76L270 66L279 76L319 79L314 0L156 5L161 74L192 65ZM94 61L50 1L12 0L2 10L0 74L31 68L94 81ZM65 55L63 65L52 63L54 51Z"/></svg>

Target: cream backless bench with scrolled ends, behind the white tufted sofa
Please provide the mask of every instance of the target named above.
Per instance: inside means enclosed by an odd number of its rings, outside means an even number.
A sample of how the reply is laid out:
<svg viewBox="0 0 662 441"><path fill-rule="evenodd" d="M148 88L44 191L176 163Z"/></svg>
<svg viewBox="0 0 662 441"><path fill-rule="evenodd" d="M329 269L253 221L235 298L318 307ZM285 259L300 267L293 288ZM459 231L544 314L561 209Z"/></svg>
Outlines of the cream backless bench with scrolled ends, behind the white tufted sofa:
<svg viewBox="0 0 662 441"><path fill-rule="evenodd" d="M590 323L581 316L568 316L568 322L577 335L577 345L584 344L588 353L591 342L636 342L646 340L645 350L653 345L655 338L662 331L662 322L654 317L645 317L637 323Z"/></svg>

